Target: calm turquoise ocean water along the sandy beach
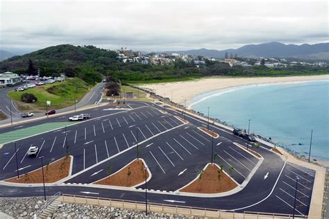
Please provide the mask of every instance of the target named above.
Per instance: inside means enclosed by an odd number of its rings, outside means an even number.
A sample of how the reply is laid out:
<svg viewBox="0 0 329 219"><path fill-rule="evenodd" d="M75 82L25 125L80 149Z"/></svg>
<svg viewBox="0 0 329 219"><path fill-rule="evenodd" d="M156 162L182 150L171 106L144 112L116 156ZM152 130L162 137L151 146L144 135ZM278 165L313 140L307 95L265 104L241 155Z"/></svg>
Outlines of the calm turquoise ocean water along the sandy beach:
<svg viewBox="0 0 329 219"><path fill-rule="evenodd" d="M271 137L280 146L329 160L329 81L249 85L196 96L190 107L237 128Z"/></svg>

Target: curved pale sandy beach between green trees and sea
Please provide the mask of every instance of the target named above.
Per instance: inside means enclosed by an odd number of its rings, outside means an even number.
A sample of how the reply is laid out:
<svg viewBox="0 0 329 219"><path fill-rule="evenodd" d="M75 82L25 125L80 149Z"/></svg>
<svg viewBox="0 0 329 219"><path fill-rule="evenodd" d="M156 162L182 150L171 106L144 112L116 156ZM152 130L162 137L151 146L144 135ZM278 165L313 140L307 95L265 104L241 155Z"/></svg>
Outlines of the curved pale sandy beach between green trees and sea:
<svg viewBox="0 0 329 219"><path fill-rule="evenodd" d="M149 85L139 85L139 87L151 89L160 96L166 96L176 103L184 103L184 100L191 100L194 96L208 91L227 89L242 85L258 85L267 83L292 83L314 80L329 80L329 75L322 76L287 76L287 77L257 77L257 78L233 78L214 76L189 80L184 82L167 82Z"/></svg>

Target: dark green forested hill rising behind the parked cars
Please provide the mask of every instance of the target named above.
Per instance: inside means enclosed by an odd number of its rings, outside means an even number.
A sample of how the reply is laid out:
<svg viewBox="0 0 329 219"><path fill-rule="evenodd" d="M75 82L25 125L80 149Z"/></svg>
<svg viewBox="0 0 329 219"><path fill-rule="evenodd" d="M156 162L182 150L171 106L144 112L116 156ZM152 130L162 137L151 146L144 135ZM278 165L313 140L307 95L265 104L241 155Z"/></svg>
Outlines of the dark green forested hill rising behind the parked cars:
<svg viewBox="0 0 329 219"><path fill-rule="evenodd" d="M101 73L117 62L117 53L95 46L73 46L62 44L33 53L16 55L0 62L0 71L52 76L65 72L69 77L78 76L90 84L101 80Z"/></svg>

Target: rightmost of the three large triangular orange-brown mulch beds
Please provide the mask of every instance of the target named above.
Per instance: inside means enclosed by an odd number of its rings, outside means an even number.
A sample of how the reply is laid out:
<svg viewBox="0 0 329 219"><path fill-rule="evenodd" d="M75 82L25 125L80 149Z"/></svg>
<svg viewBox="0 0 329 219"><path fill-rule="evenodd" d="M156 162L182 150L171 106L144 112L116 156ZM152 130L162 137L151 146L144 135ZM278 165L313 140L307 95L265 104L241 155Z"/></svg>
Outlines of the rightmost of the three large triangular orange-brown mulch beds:
<svg viewBox="0 0 329 219"><path fill-rule="evenodd" d="M210 164L205 168L201 179L198 177L192 184L180 191L185 193L223 193L236 187L237 183L230 179L223 170Z"/></svg>

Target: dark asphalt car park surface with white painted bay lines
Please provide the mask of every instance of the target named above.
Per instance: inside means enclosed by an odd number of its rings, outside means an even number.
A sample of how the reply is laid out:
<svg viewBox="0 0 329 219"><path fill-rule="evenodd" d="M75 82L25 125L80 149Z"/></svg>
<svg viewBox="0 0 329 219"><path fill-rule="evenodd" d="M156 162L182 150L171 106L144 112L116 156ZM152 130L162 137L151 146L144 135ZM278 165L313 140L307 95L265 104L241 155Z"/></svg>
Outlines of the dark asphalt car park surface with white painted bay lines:
<svg viewBox="0 0 329 219"><path fill-rule="evenodd" d="M130 104L119 107L106 105L78 112L89 113L92 118L72 122L67 128L58 128L18 140L16 144L20 173L39 168L40 160L37 157L44 156L44 163L47 164L69 152L69 155L74 157L72 176L57 190L54 186L47 186L48 191L79 193L87 190L99 195L112 195L112 198L122 198L124 191L111 190L111 193L105 194L101 188L89 188L85 185L81 189L69 185L91 184L102 179L108 175L108 166L112 166L112 173L115 173L137 157L138 142L140 157L152 173L147 184L148 189L177 191L195 179L201 169L211 161L213 146L214 152L217 153L214 163L223 166L226 173L230 173L239 186L242 186L242 190L227 197L207 199L169 195L171 199L184 200L183 205L195 207L292 213L298 177L296 213L307 215L312 198L314 171L285 163L279 155L265 146L253 148L262 155L262 158L255 157L246 148L250 145L248 141L210 124L210 129L219 134L219 138L212 139L198 128L206 127L207 122L194 116L187 115L189 123L185 124L176 118L184 118L181 112L168 108L167 113L163 113L162 105L153 103L128 103ZM73 115L74 113L56 116L49 118L49 121L67 121L69 116ZM26 126L35 123L40 121L28 123ZM12 149L12 144L7 143L0 149L0 179L16 175L15 150ZM36 157L27 155L30 146L38 146ZM3 193L1 188L0 193ZM144 188L144 184L137 187ZM125 191L126 195L129 194L125 198L143 198L141 195L134 195L135 193ZM162 203L167 197L167 193L152 194L150 199Z"/></svg>

